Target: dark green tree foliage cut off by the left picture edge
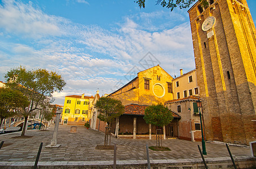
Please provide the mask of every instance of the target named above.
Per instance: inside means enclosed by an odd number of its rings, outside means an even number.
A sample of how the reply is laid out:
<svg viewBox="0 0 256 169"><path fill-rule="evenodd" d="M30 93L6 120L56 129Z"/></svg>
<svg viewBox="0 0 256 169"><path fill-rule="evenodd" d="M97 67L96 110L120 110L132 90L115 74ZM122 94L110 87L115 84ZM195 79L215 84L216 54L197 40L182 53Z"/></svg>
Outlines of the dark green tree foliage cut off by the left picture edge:
<svg viewBox="0 0 256 169"><path fill-rule="evenodd" d="M12 117L20 108L29 105L28 98L22 92L10 88L0 88L0 128L3 119Z"/></svg>

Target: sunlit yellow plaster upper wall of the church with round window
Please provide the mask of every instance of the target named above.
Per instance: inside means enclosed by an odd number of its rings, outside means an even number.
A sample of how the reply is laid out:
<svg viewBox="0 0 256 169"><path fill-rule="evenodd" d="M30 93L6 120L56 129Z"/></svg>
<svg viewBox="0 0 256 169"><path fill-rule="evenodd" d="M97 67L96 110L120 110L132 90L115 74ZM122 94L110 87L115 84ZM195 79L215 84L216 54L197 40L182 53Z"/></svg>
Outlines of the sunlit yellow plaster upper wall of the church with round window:
<svg viewBox="0 0 256 169"><path fill-rule="evenodd" d="M160 81L157 80L160 76ZM150 89L144 88L144 80L150 81ZM110 97L122 101L123 105L131 103L140 105L164 104L164 101L172 100L173 94L168 93L168 83L172 83L172 77L159 65L138 73L138 78L117 90Z"/></svg>

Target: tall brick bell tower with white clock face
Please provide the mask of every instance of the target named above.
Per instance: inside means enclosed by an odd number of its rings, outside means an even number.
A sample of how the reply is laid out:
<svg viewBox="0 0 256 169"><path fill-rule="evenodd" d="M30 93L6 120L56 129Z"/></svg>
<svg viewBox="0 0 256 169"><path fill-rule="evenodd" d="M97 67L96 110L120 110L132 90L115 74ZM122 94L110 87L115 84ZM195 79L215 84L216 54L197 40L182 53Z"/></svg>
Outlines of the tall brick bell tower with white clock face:
<svg viewBox="0 0 256 169"><path fill-rule="evenodd" d="M256 140L256 30L246 0L190 8L206 140Z"/></svg>

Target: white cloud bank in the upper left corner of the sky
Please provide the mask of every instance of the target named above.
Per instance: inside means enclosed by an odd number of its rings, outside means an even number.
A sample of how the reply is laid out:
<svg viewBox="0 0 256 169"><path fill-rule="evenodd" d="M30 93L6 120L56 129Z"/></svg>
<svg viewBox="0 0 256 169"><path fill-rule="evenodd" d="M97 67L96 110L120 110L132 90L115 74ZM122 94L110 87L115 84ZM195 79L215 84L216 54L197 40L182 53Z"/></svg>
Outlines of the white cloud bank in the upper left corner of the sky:
<svg viewBox="0 0 256 169"><path fill-rule="evenodd" d="M61 35L63 23L61 17L44 14L32 2L24 4L16 1L3 0L0 5L0 28L9 33L23 34L28 37L40 38L45 35Z"/></svg>

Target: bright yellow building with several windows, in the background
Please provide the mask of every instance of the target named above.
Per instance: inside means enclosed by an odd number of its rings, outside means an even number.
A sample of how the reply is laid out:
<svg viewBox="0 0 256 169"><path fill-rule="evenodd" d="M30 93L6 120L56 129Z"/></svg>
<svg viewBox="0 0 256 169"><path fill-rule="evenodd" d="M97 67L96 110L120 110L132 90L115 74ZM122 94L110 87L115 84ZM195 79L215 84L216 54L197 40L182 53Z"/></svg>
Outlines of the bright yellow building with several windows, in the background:
<svg viewBox="0 0 256 169"><path fill-rule="evenodd" d="M61 124L84 125L88 121L89 101L93 96L65 96Z"/></svg>

